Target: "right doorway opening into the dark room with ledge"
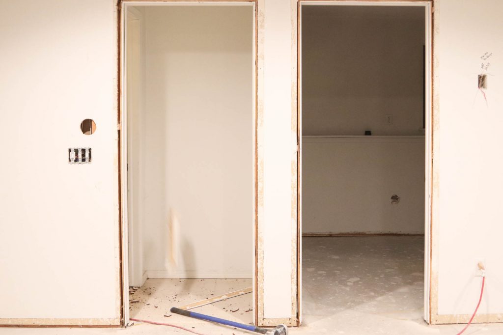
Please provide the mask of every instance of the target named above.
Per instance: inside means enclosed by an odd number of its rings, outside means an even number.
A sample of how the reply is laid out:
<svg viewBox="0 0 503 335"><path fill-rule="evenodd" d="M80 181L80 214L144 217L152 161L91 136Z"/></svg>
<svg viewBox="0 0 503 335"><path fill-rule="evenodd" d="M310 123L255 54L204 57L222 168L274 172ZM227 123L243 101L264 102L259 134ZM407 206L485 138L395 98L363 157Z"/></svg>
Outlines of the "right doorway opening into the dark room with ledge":
<svg viewBox="0 0 503 335"><path fill-rule="evenodd" d="M304 323L429 321L430 6L301 2Z"/></svg>

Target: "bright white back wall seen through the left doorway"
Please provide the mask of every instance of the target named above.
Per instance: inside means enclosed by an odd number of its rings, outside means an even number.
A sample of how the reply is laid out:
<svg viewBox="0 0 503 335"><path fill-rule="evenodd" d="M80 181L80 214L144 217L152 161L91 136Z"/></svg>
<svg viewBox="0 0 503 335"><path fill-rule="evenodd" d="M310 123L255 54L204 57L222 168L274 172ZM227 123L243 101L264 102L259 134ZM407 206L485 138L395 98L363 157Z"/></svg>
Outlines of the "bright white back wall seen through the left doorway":
<svg viewBox="0 0 503 335"><path fill-rule="evenodd" d="M146 7L145 57L144 270L251 278L253 8Z"/></svg>

